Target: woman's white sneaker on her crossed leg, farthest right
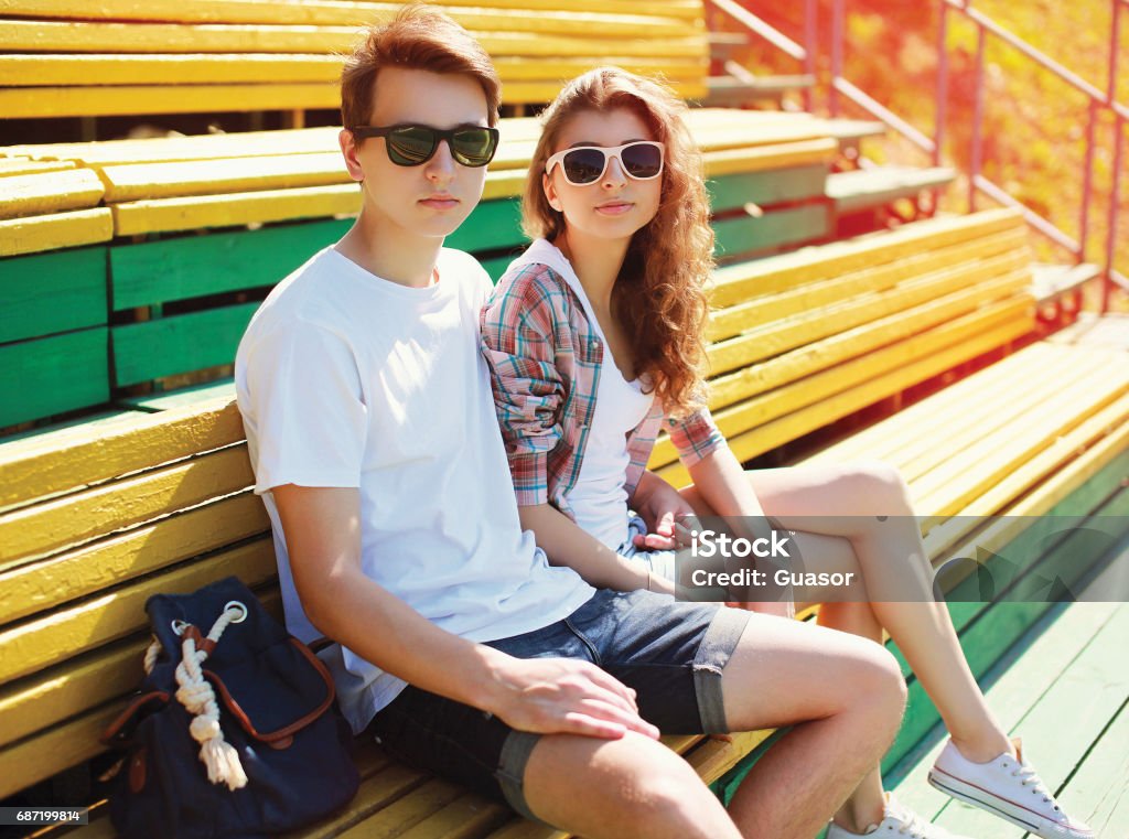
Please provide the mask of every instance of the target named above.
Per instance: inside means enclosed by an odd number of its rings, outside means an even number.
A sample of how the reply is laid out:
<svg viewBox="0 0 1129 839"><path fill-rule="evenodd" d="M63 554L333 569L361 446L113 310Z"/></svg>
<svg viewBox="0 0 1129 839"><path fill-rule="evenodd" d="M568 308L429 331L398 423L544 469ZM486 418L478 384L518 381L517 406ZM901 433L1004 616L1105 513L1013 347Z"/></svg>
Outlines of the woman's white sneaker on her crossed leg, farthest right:
<svg viewBox="0 0 1129 839"><path fill-rule="evenodd" d="M1018 760L1005 752L987 763L973 763L948 741L929 770L929 783L1043 839L1094 839L1093 830L1062 812L1023 759L1019 740L1012 743Z"/></svg>

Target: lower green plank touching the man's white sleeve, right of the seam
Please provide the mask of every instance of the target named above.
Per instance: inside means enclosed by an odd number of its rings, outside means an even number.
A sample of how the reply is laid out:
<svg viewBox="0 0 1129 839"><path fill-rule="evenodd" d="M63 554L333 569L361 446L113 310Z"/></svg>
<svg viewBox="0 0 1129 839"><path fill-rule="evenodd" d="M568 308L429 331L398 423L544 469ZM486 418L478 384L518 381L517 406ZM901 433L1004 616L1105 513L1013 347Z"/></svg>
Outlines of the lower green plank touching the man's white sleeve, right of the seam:
<svg viewBox="0 0 1129 839"><path fill-rule="evenodd" d="M114 326L114 381L135 384L230 364L257 303Z"/></svg>

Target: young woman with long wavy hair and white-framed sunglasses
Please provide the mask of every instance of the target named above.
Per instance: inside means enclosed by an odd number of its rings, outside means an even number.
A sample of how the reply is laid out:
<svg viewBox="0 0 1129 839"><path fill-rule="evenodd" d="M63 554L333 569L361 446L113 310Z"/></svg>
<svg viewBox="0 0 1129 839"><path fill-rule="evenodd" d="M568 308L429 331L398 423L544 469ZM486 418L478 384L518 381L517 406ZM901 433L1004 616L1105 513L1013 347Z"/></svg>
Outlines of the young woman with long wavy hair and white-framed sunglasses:
<svg viewBox="0 0 1129 839"><path fill-rule="evenodd" d="M804 570L855 573L874 601L826 603L820 623L876 643L889 631L937 705L951 741L930 783L1038 836L1088 839L988 709L933 600L896 471L745 472L710 419L699 370L714 237L683 111L659 85L604 68L575 79L543 115L523 200L533 244L482 313L523 526L594 585L665 592L682 516L768 516L796 531ZM693 480L681 493L645 469L660 428ZM800 604L814 596L795 589ZM877 769L828 837L876 830L949 836L886 795Z"/></svg>

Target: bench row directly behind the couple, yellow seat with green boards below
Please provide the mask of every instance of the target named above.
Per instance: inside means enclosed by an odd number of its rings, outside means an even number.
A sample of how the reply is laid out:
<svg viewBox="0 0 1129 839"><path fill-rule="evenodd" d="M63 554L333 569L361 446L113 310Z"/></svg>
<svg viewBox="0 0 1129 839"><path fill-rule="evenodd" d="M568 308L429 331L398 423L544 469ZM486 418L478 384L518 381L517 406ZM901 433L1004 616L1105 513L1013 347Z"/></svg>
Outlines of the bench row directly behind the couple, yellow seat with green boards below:
<svg viewBox="0 0 1129 839"><path fill-rule="evenodd" d="M829 235L823 190L837 145L828 123L706 110L692 124L723 259ZM502 130L485 198L449 238L495 277L523 246L516 196L539 128L510 119ZM0 259L0 304L15 313L0 327L0 428L141 395L155 379L161 390L226 375L269 286L340 237L358 210L335 134L5 149L0 160L80 168L0 175L0 190L15 183L8 194L21 196L0 206L0 217L12 216L0 220L0 252L10 254ZM90 189L79 193L76 177ZM75 209L80 201L97 206ZM105 222L94 230L102 242L17 255L56 247L87 219Z"/></svg>

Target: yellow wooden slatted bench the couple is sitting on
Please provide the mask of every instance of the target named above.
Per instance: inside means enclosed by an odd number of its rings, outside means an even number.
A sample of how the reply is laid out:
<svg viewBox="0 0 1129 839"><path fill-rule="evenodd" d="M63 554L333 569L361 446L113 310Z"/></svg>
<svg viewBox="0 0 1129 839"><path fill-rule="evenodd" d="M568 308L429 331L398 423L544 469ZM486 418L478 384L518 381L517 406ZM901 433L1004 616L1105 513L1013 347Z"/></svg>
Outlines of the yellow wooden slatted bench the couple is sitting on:
<svg viewBox="0 0 1129 839"><path fill-rule="evenodd" d="M903 390L1024 334L1031 301L1021 290L1026 256L1015 235L1018 225L1008 212L940 219L719 269L710 352L728 370L715 388L729 408L716 407L737 454L750 457L779 446L894 387ZM1010 252L1014 259L1006 259ZM962 259L975 264L964 265ZM998 286L987 277L991 271L1003 278ZM926 307L931 314L919 311L921 289L935 296L933 307ZM887 297L896 304L886 306ZM863 317L867 312L883 316ZM952 322L938 325L940 313ZM742 332L743 323L762 325ZM892 342L899 333L921 330L931 337ZM727 355L743 335L763 342L745 342L737 356ZM807 350L800 351L798 340L808 342ZM859 355L866 348L869 352ZM929 505L922 512L942 517L977 509L978 499L1004 498L1006 507L1035 484L1057 487L1061 497L1086 479L1087 470L1092 475L1119 445L1124 447L1129 366L1118 367L1124 356L1117 352L1036 344L933 397L947 414L938 408L935 417L922 402L905 412L907 419L895 416L891 422L904 423L902 446L872 451L864 442L855 454L881 454L902 465ZM887 372L879 373L878 365ZM1009 412L986 430L991 442L970 445L978 418L995 416L991 402L975 403L977 394L995 394L1001 383L1024 382L1035 372L1053 381L1077 375L1078 384L1059 390L1053 409L1040 412L1045 421L1038 431L1016 434L1030 405L1013 399ZM741 377L741 384L726 376ZM726 390L729 383L735 390ZM920 451L920 434L930 428L931 445ZM960 448L949 448L949 432ZM896 437L872 434L883 443ZM846 448L850 442L842 445L821 456L852 456ZM667 446L660 444L656 463ZM998 454L984 458L984 448ZM949 465L960 462L945 456L954 452L968 452L978 467ZM1085 454L1079 457L1079 452ZM277 615L280 604L268 519L248 489L242 425L229 394L0 445L0 472L3 797L100 753L98 733L140 678L142 604L149 595L192 591L237 574ZM677 466L664 472L684 482ZM944 521L936 522L937 535L929 534L934 557L969 535L947 532ZM743 734L733 743L693 737L668 743L715 780L768 734ZM373 746L364 750L361 767L366 779L357 801L310 836L349 829L358 834L387 829L388 836L546 834L452 785L390 763ZM454 825L464 832L449 832ZM108 828L103 823L97 830Z"/></svg>

